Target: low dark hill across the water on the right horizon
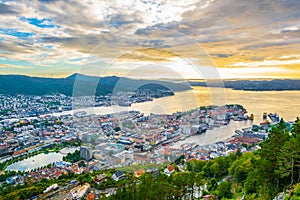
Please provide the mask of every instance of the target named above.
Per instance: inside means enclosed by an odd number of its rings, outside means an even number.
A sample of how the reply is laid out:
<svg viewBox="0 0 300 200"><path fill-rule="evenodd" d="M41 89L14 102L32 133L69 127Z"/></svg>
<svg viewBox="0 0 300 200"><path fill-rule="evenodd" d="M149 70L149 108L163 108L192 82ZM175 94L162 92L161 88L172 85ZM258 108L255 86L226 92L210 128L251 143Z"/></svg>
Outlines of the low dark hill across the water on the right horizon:
<svg viewBox="0 0 300 200"><path fill-rule="evenodd" d="M192 86L220 87L220 82L190 82ZM236 80L224 81L225 88L235 90L272 91L272 90L300 90L300 80L275 79L275 80Z"/></svg>

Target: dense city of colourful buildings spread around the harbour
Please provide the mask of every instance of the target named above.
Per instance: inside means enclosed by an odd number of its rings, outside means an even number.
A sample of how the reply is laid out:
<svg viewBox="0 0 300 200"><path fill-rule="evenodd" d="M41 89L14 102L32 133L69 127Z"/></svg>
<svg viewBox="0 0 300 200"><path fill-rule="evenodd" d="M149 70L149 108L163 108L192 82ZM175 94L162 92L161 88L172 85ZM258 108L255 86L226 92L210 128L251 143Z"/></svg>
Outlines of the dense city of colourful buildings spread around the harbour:
<svg viewBox="0 0 300 200"><path fill-rule="evenodd" d="M59 178L65 173L82 174L126 166L164 166L182 155L188 162L193 159L211 160L237 151L251 152L260 148L259 143L268 137L271 127L280 121L277 114L269 114L268 121L265 113L259 125L253 124L252 127L236 130L232 137L224 141L216 138L215 143L199 145L185 140L230 123L251 121L253 116L248 116L241 105L201 106L170 115L144 115L138 111L107 115L87 114L84 111L64 114L59 108L70 106L70 102L71 98L64 95L2 97L3 110L11 111L2 112L1 169L8 172L19 171L17 175L7 177L6 184L24 184L29 179L42 181ZM50 109L49 105L52 106ZM291 122L290 127L292 124ZM175 147L178 142L182 144ZM61 156L56 156L58 160L54 162L51 154L57 153ZM45 158L48 162L43 166L39 162L39 155L50 156L49 159ZM67 160L65 157L77 159ZM36 166L18 167L24 165L21 164L23 160L26 163L28 159L35 162ZM170 171L164 173L172 173ZM136 173L143 174L145 170L138 170ZM105 178L99 180L102 182L106 178L105 175ZM59 186L55 184L57 189ZM71 184L62 193L72 194L77 184L73 185L74 187ZM82 187L93 191L90 185ZM87 191L86 189L82 196ZM111 190L109 194L113 191L115 190ZM99 194L104 191L96 189L95 192ZM56 193L52 191L51 195L55 196Z"/></svg>

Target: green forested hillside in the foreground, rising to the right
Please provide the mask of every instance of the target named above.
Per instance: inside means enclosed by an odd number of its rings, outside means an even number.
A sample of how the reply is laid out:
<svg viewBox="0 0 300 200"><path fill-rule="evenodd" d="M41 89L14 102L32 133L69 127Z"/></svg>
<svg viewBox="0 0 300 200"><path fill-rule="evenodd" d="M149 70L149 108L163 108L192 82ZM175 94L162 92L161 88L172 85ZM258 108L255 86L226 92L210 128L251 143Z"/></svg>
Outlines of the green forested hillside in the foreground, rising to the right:
<svg viewBox="0 0 300 200"><path fill-rule="evenodd" d="M200 185L206 185L202 196L211 194L218 199L244 196L246 200L267 200L286 190L290 191L286 199L300 199L300 120L292 130L281 121L258 151L237 152L211 161L190 160L186 169L170 177L147 174L109 199L181 199L192 196L193 186Z"/></svg>

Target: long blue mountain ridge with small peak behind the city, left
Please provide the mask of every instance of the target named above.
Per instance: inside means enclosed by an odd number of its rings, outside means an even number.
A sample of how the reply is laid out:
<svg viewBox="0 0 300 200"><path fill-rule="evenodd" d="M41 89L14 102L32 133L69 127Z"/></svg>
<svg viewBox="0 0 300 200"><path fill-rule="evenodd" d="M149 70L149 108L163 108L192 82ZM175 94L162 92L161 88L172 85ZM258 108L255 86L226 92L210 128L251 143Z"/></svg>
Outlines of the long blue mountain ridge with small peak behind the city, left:
<svg viewBox="0 0 300 200"><path fill-rule="evenodd" d="M67 78L40 78L23 75L0 75L0 94L106 95L114 91L134 91L138 88L170 91L191 89L187 82L135 80L116 76L96 77L72 74Z"/></svg>

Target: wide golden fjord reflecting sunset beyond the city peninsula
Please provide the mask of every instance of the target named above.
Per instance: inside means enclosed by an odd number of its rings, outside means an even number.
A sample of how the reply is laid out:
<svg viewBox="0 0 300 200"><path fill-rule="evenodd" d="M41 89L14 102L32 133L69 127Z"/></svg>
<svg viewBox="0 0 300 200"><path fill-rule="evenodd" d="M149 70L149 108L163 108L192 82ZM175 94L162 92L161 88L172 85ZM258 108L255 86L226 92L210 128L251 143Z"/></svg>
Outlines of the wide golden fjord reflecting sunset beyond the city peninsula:
<svg viewBox="0 0 300 200"><path fill-rule="evenodd" d="M249 114L254 114L254 123L262 120L264 112L277 113L286 121L294 121L300 115L300 91L243 91L229 88L193 87L193 90L175 92L174 96L135 103L131 107L90 107L84 110L89 114L108 114L120 111L137 110L146 115L172 114L188 111L204 105L243 105ZM70 113L70 112L69 112Z"/></svg>

